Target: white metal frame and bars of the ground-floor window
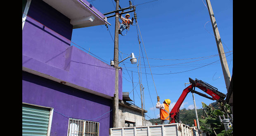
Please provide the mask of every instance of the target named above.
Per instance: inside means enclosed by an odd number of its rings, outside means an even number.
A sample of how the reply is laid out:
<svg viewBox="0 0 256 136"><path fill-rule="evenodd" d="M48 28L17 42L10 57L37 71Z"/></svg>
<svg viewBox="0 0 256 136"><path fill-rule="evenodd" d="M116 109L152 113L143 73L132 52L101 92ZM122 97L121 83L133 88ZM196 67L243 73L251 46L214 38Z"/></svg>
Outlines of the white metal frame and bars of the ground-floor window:
<svg viewBox="0 0 256 136"><path fill-rule="evenodd" d="M72 121L72 122L74 121L75 123L69 123L67 136L78 136L78 127L80 127L81 124L83 125L83 132L82 132L83 134L82 134L82 136L85 136L85 133L89 133L89 134L94 133L92 127L96 126L96 124L97 124L97 134L95 133L92 136L99 136L100 135L100 122L93 122L93 121L88 121L88 120L79 120L79 119L73 119L73 118L69 118L69 121ZM88 132L85 132L86 123L88 123L88 126L89 126L89 122L90 122L90 130L87 130ZM72 134L72 130L74 130L73 134Z"/></svg>

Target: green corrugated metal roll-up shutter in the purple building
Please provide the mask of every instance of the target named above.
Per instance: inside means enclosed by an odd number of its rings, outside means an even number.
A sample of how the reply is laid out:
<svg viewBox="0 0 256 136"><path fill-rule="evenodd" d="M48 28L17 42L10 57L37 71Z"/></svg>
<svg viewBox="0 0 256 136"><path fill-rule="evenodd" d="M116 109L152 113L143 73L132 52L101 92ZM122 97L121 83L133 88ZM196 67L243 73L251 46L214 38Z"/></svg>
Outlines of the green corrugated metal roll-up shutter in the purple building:
<svg viewBox="0 0 256 136"><path fill-rule="evenodd" d="M22 104L22 136L47 136L50 108Z"/></svg>

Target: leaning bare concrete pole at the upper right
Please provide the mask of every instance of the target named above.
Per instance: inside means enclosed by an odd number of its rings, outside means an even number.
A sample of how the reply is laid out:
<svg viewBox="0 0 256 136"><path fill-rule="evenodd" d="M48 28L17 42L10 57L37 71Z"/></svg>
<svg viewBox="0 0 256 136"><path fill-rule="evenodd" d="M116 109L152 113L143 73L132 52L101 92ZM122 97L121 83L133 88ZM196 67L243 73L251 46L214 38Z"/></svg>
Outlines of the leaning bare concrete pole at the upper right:
<svg viewBox="0 0 256 136"><path fill-rule="evenodd" d="M229 69L228 69L228 63L227 63L227 59L226 59L226 56L225 56L225 53L224 53L224 49L223 49L223 46L222 46L222 43L221 43L221 40L220 40L220 33L219 33L217 23L216 23L214 14L213 14L213 9L211 7L211 2L210 2L210 0L206 0L206 3L207 3L210 18L211 18L211 24L212 24L212 27L213 27L215 40L216 40L217 47L218 47L218 53L219 53L219 56L220 56L221 67L222 67L222 71L223 71L223 75L224 75L224 79L225 79L225 83L226 83L226 89L228 91L228 88L229 88L229 85L230 85L230 80L231 80L230 72L229 72Z"/></svg>

